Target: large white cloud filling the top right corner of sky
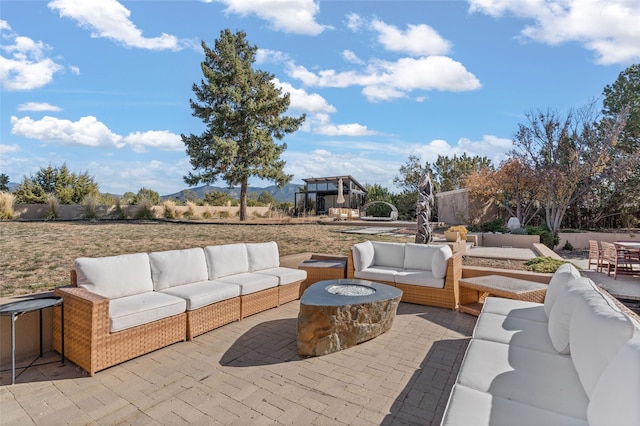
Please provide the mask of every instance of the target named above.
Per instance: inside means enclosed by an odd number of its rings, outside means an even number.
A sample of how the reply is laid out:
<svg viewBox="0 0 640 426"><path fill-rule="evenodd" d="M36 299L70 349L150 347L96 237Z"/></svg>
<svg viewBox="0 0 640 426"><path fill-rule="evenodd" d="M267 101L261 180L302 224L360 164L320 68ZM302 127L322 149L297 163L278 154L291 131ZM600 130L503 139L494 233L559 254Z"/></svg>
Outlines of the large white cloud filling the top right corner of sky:
<svg viewBox="0 0 640 426"><path fill-rule="evenodd" d="M556 45L581 43L603 65L640 59L640 2L636 0L469 0L471 12L512 14L534 21L521 36Z"/></svg>

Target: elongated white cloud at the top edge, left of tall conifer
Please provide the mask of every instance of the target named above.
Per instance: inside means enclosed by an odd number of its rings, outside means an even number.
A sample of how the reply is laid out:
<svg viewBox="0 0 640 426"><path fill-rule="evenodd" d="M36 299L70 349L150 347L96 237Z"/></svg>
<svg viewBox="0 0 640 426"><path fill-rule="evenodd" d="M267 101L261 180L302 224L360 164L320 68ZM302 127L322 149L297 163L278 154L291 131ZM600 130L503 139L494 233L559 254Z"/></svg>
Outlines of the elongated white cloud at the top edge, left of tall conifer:
<svg viewBox="0 0 640 426"><path fill-rule="evenodd" d="M180 50L192 44L164 33L158 37L143 37L142 31L129 19L129 9L116 0L52 0L48 6L61 17L74 19L81 27L91 29L91 37L108 38L126 47Z"/></svg>

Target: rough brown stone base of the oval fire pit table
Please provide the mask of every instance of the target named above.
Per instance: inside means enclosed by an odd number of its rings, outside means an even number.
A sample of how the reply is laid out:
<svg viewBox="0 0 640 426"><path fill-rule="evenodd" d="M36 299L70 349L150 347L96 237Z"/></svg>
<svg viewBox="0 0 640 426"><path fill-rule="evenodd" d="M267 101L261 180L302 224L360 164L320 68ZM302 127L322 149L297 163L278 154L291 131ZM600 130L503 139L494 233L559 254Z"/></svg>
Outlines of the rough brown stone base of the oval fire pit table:
<svg viewBox="0 0 640 426"><path fill-rule="evenodd" d="M350 348L389 330L396 316L399 296L341 306L300 305L298 353L320 356Z"/></svg>

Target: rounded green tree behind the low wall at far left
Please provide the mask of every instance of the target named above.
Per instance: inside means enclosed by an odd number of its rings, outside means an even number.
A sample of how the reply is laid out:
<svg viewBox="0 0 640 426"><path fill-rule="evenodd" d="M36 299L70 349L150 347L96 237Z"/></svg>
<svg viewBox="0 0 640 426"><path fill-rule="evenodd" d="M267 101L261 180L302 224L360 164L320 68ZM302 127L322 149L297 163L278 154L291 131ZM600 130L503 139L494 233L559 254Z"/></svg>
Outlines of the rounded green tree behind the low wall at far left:
<svg viewBox="0 0 640 426"><path fill-rule="evenodd" d="M49 195L59 204L80 204L87 196L100 197L98 184L88 172L76 174L66 164L43 167L35 175L25 176L14 191L18 203L47 203Z"/></svg>

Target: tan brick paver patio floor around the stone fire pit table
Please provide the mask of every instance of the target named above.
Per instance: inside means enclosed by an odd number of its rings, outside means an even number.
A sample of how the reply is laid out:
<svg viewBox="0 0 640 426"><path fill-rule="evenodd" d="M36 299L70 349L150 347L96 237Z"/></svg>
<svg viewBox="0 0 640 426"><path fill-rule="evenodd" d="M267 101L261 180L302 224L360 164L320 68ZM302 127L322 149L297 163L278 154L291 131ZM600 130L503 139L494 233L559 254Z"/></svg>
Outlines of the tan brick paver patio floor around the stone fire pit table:
<svg viewBox="0 0 640 426"><path fill-rule="evenodd" d="M299 302L88 377L59 355L0 387L0 423L438 424L475 324L401 303L393 328L317 358L296 349ZM42 360L38 360L42 362Z"/></svg>

